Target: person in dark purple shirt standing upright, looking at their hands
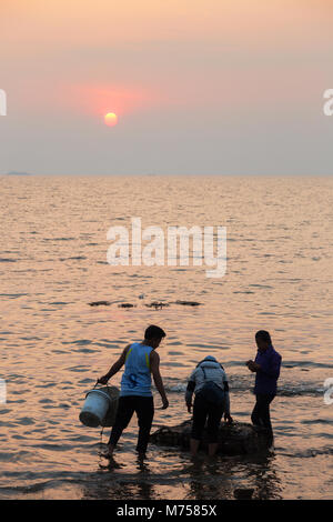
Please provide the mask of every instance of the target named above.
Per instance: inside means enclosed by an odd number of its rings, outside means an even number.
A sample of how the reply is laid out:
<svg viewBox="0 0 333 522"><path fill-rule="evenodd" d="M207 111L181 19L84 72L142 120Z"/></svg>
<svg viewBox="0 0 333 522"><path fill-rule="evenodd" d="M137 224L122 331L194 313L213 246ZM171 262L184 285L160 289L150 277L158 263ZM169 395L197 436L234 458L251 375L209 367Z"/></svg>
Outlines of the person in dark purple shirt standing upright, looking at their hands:
<svg viewBox="0 0 333 522"><path fill-rule="evenodd" d="M270 404L276 395L282 358L280 353L274 350L271 335L265 330L256 332L255 342L258 347L255 360L246 362L249 370L255 372L254 394L256 401L251 414L251 420L254 425L268 430L272 443L273 430Z"/></svg>

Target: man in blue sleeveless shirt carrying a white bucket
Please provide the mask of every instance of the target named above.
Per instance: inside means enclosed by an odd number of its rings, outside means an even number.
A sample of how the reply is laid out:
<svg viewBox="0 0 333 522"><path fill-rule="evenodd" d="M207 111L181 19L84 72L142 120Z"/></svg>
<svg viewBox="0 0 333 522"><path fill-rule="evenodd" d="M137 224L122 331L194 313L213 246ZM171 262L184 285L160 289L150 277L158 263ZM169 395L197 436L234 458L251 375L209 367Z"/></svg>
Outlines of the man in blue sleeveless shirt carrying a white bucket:
<svg viewBox="0 0 333 522"><path fill-rule="evenodd" d="M104 456L111 458L113 450L123 430L137 413L139 424L139 436L137 451L142 459L149 442L151 424L154 415L153 396L151 392L151 373L155 387L162 398L165 410L169 406L162 377L160 373L160 357L155 352L165 332L155 325L149 327L144 332L142 342L128 344L121 357L111 367L109 372L101 377L98 382L107 384L109 379L125 365L119 395L118 411L108 443L109 451Z"/></svg>

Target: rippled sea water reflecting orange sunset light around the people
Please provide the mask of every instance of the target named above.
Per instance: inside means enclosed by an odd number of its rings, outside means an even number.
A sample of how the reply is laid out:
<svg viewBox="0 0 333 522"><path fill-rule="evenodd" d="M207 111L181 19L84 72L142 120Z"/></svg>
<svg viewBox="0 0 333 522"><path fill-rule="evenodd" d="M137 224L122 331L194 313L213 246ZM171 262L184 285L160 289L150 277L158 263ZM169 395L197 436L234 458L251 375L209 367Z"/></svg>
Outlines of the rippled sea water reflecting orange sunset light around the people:
<svg viewBox="0 0 333 522"><path fill-rule="evenodd" d="M333 496L333 179L229 177L1 177L1 499L261 499ZM226 273L208 267L112 267L112 225L225 225ZM143 300L139 295L144 293ZM90 307L108 300L109 307ZM155 300L192 300L152 310ZM119 303L131 302L124 310ZM79 421L84 394L127 343L154 323L170 408L154 424L189 418L186 379L212 354L230 378L235 420L250 422L254 333L272 334L283 367L271 412L275 452L218 456L150 446L135 460L137 419L115 454L104 431ZM121 373L111 384L119 384ZM161 405L157 391L155 406Z"/></svg>

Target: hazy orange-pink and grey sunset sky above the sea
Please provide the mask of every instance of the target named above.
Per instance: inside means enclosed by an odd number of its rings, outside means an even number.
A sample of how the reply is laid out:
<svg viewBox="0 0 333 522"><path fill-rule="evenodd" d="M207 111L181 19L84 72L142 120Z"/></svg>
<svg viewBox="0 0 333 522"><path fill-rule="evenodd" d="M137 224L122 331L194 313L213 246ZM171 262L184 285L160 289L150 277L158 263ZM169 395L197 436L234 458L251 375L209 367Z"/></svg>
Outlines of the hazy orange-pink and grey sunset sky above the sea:
<svg viewBox="0 0 333 522"><path fill-rule="evenodd" d="M332 23L333 0L0 0L0 173L332 174Z"/></svg>

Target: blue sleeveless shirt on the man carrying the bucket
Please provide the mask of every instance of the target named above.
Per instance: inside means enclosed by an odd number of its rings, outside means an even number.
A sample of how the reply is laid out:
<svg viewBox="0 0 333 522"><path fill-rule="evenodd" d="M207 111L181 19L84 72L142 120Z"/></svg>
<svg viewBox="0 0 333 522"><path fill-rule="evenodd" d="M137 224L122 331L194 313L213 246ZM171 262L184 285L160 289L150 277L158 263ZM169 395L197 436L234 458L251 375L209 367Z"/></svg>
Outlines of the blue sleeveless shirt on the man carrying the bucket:
<svg viewBox="0 0 333 522"><path fill-rule="evenodd" d="M151 351L151 347L140 342L130 345L121 379L120 396L152 396L149 362Z"/></svg>

